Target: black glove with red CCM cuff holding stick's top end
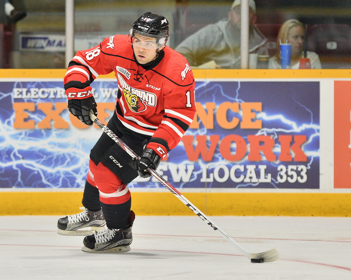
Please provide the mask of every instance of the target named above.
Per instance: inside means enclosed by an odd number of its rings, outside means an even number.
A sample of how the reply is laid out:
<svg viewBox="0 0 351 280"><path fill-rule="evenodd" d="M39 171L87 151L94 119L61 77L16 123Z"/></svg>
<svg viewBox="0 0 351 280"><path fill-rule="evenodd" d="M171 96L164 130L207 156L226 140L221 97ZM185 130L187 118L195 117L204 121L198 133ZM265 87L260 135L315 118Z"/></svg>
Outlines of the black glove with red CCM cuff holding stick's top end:
<svg viewBox="0 0 351 280"><path fill-rule="evenodd" d="M98 115L98 110L96 109L96 102L91 93L91 87L87 86L85 89L76 89L70 87L66 90L68 96L68 110L71 114L82 123L86 125L93 125L93 121L90 119L90 110L93 110L94 115Z"/></svg>

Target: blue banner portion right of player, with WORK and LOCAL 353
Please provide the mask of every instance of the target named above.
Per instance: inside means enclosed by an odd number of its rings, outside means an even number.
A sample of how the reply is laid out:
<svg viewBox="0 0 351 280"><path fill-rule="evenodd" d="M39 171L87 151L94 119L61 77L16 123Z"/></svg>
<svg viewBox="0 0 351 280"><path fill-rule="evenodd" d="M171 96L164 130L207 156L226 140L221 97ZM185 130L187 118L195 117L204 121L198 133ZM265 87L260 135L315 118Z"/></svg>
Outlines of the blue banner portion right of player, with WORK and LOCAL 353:
<svg viewBox="0 0 351 280"><path fill-rule="evenodd" d="M196 101L197 118L169 157L183 181L319 188L319 82L198 82Z"/></svg>

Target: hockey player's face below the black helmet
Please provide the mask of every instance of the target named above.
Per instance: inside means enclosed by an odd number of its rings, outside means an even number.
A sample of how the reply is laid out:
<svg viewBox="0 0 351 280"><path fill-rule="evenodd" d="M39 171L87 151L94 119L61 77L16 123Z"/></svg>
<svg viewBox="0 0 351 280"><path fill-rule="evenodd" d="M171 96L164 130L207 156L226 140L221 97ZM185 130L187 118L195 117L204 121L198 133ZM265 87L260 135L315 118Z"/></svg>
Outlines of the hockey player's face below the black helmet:
<svg viewBox="0 0 351 280"><path fill-rule="evenodd" d="M135 57L140 64L146 64L155 60L157 56L156 38L134 35L133 49Z"/></svg>

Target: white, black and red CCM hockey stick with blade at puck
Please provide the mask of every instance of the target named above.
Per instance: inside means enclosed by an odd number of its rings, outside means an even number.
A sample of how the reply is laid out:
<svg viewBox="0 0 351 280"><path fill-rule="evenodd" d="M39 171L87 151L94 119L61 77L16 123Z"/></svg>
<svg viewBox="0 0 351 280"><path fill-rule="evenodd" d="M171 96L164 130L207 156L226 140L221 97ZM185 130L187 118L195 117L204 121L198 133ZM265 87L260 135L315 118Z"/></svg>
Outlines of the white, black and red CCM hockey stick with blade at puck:
<svg viewBox="0 0 351 280"><path fill-rule="evenodd" d="M106 125L104 125L95 115L93 111L90 111L90 118L97 124L113 141L115 141L124 151L126 151L132 158L140 159L140 156L135 154L131 148L129 148L122 140L120 140L117 135L115 135ZM192 210L196 215L198 215L206 224L211 226L213 230L218 230L229 243L234 245L246 258L251 262L271 262L279 259L279 253L277 249L272 249L262 253L250 253L241 247L236 241L234 241L230 236L228 236L223 230L218 228L207 216L201 212L194 204L188 201L179 191L177 191L170 183L168 183L161 175L159 175L155 170L147 168L147 171L150 172L161 184L163 184L172 194L174 194L181 202L183 202L190 210Z"/></svg>

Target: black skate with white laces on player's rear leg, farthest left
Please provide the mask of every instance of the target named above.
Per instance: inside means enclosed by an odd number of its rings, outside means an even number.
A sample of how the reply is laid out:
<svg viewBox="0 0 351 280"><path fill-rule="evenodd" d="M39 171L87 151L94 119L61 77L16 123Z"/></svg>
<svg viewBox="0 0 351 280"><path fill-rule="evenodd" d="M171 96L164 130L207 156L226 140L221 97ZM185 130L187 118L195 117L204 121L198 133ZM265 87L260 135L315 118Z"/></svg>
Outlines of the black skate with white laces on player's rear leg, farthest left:
<svg viewBox="0 0 351 280"><path fill-rule="evenodd" d="M91 235L106 230L106 221L102 210L90 211L80 207L83 211L60 218L57 223L57 233L60 235Z"/></svg>

